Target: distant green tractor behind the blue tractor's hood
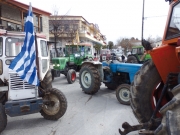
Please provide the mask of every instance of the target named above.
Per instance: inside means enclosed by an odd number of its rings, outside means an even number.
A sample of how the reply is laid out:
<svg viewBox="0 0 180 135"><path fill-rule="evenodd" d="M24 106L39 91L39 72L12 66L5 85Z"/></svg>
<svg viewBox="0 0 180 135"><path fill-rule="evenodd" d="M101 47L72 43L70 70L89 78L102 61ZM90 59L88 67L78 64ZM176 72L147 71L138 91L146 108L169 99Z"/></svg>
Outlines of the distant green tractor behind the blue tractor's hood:
<svg viewBox="0 0 180 135"><path fill-rule="evenodd" d="M131 54L128 55L126 63L142 64L149 59L151 59L151 56L146 54L143 46L135 46L132 47Z"/></svg>

